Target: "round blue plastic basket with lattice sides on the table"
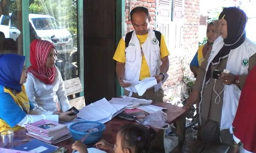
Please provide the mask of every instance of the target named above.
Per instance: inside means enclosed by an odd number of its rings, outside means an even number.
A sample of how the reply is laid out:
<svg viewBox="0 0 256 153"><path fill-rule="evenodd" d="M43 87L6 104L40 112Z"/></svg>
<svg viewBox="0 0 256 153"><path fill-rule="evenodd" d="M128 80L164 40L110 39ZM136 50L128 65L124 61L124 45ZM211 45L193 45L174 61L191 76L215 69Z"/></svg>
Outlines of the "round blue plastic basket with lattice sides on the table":
<svg viewBox="0 0 256 153"><path fill-rule="evenodd" d="M69 130L75 141L81 140L88 133L85 131L92 128L97 128L98 131L90 133L90 135L83 142L85 145L89 145L89 144L100 141L106 126L97 121L82 121L82 122L71 124L69 126Z"/></svg>

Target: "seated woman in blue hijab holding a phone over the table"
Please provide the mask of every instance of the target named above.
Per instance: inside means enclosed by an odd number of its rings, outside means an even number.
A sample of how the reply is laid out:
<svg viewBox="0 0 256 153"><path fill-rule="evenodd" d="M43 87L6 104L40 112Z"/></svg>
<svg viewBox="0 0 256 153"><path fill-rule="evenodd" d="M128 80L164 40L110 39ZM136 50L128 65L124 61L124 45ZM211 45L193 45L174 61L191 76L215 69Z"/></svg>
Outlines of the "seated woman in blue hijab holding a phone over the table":
<svg viewBox="0 0 256 153"><path fill-rule="evenodd" d="M76 115L68 115L73 111L53 115L54 112L47 112L30 103L23 85L27 80L27 69L24 62L25 56L0 55L0 132L16 131L25 124L41 119L57 123L59 120L73 120Z"/></svg>

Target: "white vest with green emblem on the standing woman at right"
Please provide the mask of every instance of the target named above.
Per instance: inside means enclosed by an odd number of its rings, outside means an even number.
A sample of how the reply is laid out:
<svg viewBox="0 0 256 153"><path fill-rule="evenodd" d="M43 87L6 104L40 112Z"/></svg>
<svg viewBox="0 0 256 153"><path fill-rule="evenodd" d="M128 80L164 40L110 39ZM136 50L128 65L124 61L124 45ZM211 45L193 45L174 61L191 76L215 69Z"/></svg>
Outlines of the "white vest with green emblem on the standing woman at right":
<svg viewBox="0 0 256 153"><path fill-rule="evenodd" d="M224 45L223 38L219 36L219 38L217 38L213 43L212 51L206 67L206 72L207 72L207 69L209 68L210 62L218 54L218 52L220 51L223 45ZM255 53L256 53L256 45L250 42L246 38L245 41L239 47L230 51L226 69L228 69L230 73L234 75L247 75L249 73L248 72L249 58ZM210 79L213 79L213 78L210 78ZM205 81L206 81L206 75L204 76L201 97L203 97L203 89L204 89ZM235 118L240 94L241 94L241 91L238 88L238 86L234 84L225 85L223 106L222 106L222 116L220 120L220 130L232 128L232 123ZM201 99L201 102L202 102L202 99ZM201 102L199 104L199 110L201 109Z"/></svg>

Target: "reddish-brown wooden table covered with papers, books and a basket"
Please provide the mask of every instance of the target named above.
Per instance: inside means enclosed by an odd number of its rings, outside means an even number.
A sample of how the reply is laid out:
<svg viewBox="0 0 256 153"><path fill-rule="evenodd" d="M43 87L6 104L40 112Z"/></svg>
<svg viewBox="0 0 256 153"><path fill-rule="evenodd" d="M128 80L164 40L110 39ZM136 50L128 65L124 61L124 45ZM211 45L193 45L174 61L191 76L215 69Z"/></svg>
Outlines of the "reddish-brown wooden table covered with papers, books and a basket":
<svg viewBox="0 0 256 153"><path fill-rule="evenodd" d="M168 103L160 103L160 102L153 102L152 103L155 106L160 107L166 107L167 110L165 113L167 113L167 121L166 123L172 124L177 128L177 135L178 135L178 143L180 144L185 140L185 113L187 112L187 109L181 108L172 104ZM124 120L118 117L113 118L111 121L108 121L105 123L106 129L103 132L102 139L106 140L109 143L114 144L116 142L116 134L119 131L119 129L126 124L138 124L135 121L128 121ZM155 140L153 140L153 148L157 149L156 152L164 153L164 130L158 130L156 134ZM15 132L15 140L17 139L27 139L30 140L32 137L26 135L26 129L20 130ZM15 142L14 145L19 145L20 143L24 142ZM73 138L70 138L66 141L60 142L56 144L55 146L58 147L65 147L69 150L69 152L72 152L71 145L74 143Z"/></svg>

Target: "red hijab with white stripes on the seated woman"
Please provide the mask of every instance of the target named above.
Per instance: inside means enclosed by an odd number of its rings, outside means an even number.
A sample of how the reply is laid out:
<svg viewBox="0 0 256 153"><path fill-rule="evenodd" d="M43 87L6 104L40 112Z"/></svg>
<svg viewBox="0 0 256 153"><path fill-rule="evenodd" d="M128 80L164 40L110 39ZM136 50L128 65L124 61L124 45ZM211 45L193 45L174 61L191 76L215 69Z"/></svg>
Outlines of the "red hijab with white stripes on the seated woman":
<svg viewBox="0 0 256 153"><path fill-rule="evenodd" d="M30 63L28 71L45 84L52 84L54 81L55 67L47 68L46 60L54 45L46 40L33 40L30 44Z"/></svg>

